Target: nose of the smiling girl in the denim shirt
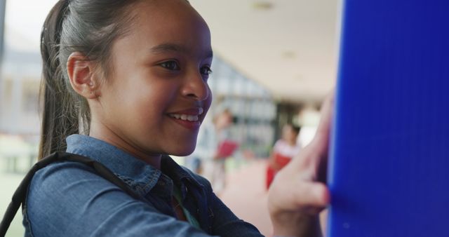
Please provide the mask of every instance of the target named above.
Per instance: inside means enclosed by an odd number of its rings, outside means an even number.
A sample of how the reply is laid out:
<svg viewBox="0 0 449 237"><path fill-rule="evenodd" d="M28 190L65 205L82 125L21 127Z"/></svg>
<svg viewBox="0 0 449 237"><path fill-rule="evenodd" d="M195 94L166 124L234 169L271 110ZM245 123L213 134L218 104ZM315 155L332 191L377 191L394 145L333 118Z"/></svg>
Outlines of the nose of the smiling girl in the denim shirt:
<svg viewBox="0 0 449 237"><path fill-rule="evenodd" d="M187 76L182 86L182 95L199 101L206 100L209 97L209 86L201 73L192 72Z"/></svg>

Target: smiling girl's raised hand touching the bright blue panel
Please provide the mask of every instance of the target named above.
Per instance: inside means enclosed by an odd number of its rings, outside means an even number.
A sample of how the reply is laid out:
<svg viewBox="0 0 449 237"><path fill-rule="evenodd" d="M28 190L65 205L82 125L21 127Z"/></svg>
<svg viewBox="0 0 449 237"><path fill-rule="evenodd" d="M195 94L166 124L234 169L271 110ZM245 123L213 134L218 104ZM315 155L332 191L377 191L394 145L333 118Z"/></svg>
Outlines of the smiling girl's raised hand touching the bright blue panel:
<svg viewBox="0 0 449 237"><path fill-rule="evenodd" d="M322 236L319 212L330 201L325 182L333 99L331 93L323 102L312 142L278 172L269 189L274 236Z"/></svg>

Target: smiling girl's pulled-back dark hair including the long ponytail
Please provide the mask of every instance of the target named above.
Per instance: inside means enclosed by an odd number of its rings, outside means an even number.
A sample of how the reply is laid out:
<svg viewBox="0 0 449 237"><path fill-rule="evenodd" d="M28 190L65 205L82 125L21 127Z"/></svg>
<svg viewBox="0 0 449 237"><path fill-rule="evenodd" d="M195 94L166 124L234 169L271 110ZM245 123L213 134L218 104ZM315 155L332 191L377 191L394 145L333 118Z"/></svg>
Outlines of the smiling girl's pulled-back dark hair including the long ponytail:
<svg viewBox="0 0 449 237"><path fill-rule="evenodd" d="M61 0L51 9L41 32L43 61L42 127L39 156L65 151L65 137L89 132L91 113L86 99L70 86L67 59L73 52L86 55L109 71L110 48L126 34L138 0Z"/></svg>

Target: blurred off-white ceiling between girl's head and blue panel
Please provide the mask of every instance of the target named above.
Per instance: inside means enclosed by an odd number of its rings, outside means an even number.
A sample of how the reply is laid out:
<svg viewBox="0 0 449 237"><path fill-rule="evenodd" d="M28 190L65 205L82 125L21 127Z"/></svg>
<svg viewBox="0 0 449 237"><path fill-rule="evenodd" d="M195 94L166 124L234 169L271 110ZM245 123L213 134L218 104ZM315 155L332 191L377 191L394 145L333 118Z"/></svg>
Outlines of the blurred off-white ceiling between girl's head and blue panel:
<svg viewBox="0 0 449 237"><path fill-rule="evenodd" d="M276 100L317 102L333 87L338 0L190 0L208 22L214 53ZM272 8L257 9L257 4Z"/></svg>

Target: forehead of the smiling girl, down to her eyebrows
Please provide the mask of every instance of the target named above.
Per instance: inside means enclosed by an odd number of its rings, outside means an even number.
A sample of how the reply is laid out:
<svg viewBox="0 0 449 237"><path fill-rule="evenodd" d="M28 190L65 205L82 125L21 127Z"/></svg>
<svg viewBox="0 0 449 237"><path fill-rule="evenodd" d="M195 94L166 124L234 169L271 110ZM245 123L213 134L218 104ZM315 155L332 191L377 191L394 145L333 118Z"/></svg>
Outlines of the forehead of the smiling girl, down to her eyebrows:
<svg viewBox="0 0 449 237"><path fill-rule="evenodd" d="M212 58L208 26L184 0L140 1L130 13L127 34L114 43L114 53L135 58L166 53Z"/></svg>

